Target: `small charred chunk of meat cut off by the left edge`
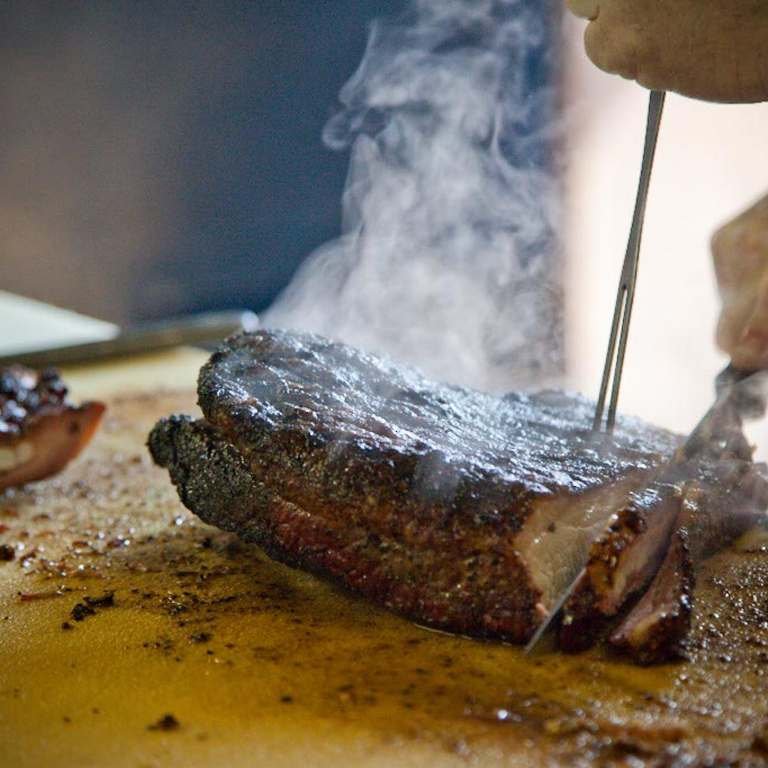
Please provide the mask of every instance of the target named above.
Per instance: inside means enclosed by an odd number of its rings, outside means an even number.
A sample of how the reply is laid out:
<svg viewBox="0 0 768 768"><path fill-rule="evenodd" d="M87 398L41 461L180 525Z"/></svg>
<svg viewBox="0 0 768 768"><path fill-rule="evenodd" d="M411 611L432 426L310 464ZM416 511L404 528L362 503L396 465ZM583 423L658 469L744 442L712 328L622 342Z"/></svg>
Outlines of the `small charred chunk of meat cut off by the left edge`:
<svg viewBox="0 0 768 768"><path fill-rule="evenodd" d="M104 413L77 407L58 373L0 369L0 491L61 471L88 444Z"/></svg>

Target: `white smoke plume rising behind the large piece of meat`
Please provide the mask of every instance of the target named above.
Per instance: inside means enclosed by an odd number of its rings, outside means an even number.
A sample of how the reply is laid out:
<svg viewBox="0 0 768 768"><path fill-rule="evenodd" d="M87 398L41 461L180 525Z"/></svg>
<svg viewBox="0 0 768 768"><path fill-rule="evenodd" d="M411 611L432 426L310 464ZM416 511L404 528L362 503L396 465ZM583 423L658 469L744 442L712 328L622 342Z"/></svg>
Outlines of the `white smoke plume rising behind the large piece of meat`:
<svg viewBox="0 0 768 768"><path fill-rule="evenodd" d="M305 262L267 325L487 390L559 372L558 185L526 159L551 136L524 126L553 101L547 88L525 95L545 33L533 5L415 0L372 25L324 133L351 145L342 235Z"/></svg>

